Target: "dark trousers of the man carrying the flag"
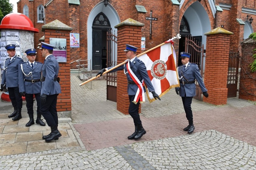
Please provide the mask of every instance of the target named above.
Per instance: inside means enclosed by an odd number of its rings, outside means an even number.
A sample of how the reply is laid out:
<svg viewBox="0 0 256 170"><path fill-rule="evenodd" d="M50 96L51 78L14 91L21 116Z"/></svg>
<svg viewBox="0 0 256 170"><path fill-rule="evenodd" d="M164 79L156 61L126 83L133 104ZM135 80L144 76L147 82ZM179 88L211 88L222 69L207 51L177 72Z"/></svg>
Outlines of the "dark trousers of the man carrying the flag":
<svg viewBox="0 0 256 170"><path fill-rule="evenodd" d="M128 112L131 115L131 117L133 118L134 125L140 125L140 124L142 124L140 117L139 117L140 102L138 102L137 104L133 103L134 98L135 98L135 95L129 95L130 105L129 105Z"/></svg>

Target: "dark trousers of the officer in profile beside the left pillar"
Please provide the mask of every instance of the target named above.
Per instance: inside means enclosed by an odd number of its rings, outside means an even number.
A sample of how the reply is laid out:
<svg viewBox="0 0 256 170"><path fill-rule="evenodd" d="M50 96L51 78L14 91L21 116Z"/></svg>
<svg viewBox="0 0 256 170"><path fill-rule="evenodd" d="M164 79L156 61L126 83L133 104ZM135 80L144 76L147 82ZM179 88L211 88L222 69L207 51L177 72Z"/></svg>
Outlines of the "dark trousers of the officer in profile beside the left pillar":
<svg viewBox="0 0 256 170"><path fill-rule="evenodd" d="M58 126L58 115L56 109L58 95L59 94L48 95L44 104L40 102L40 113L50 127Z"/></svg>

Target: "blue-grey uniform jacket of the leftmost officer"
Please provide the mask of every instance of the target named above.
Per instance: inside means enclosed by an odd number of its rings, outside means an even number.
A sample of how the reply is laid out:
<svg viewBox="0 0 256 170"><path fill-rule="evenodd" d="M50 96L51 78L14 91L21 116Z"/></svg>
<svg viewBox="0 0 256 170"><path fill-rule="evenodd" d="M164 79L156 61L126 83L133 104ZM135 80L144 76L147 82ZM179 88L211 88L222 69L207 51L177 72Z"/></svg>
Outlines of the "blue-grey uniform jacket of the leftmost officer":
<svg viewBox="0 0 256 170"><path fill-rule="evenodd" d="M18 87L18 67L23 62L23 59L17 56L14 56L11 62L9 62L9 58L6 59L4 64L5 70L3 72L1 84L5 84L6 82L6 87Z"/></svg>

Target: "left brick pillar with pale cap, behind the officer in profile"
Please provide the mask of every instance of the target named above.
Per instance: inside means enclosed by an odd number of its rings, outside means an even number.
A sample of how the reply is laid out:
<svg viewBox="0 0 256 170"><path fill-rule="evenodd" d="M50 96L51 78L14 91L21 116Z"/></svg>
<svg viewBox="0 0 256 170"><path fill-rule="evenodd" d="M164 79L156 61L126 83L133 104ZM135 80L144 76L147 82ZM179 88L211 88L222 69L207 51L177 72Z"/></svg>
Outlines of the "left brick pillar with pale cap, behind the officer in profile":
<svg viewBox="0 0 256 170"><path fill-rule="evenodd" d="M70 88L70 38L69 33L72 28L55 20L42 26L44 32L44 42L50 43L50 38L66 39L67 62L59 62L59 78L61 94L57 99L57 111L59 117L71 117L71 88ZM38 51L41 53L41 50ZM39 55L42 57L42 55ZM44 62L43 58L39 61Z"/></svg>

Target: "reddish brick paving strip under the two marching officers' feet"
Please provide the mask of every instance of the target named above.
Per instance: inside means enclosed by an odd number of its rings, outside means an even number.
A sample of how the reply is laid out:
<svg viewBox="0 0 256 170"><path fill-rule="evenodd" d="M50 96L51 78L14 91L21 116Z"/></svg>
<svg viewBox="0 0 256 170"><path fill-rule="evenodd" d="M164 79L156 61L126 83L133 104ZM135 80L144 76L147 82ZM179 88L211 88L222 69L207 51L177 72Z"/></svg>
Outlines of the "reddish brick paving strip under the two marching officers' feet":
<svg viewBox="0 0 256 170"><path fill-rule="evenodd" d="M241 108L223 107L211 110L195 111L195 131L215 129L238 140L256 146L256 106ZM74 127L87 150L120 146L134 142L157 140L186 135L183 128L188 122L184 114L145 118L142 125L147 133L140 140L128 140L134 132L132 118L123 118L87 124L75 124Z"/></svg>

